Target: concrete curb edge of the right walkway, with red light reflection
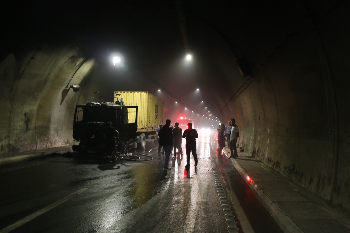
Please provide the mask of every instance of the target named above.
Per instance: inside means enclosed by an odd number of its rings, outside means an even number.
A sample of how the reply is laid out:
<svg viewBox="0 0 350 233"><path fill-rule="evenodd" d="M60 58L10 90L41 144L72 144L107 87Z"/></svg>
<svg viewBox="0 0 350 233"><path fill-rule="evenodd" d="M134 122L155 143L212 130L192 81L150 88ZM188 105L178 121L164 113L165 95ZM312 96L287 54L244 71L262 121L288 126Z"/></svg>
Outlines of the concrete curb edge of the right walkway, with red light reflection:
<svg viewBox="0 0 350 233"><path fill-rule="evenodd" d="M224 148L226 154L229 154L228 150ZM233 166L237 169L243 180L248 184L250 189L259 198L265 208L271 213L277 224L282 228L283 232L297 232L303 233L303 231L294 223L292 219L282 210L282 208L271 198L267 192L261 188L261 186L251 178L246 170L239 165L235 159L229 159ZM248 179L249 177L249 179Z"/></svg>

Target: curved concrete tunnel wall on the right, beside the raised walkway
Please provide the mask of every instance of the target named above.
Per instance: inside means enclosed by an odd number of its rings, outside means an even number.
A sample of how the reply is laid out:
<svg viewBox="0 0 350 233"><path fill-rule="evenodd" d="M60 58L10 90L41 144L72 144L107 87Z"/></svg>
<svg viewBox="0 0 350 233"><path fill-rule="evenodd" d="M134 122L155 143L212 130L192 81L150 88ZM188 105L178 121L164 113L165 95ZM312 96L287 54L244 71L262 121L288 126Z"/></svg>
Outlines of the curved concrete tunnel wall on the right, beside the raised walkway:
<svg viewBox="0 0 350 233"><path fill-rule="evenodd" d="M344 5L276 51L222 116L236 118L239 147L349 216L350 37Z"/></svg>

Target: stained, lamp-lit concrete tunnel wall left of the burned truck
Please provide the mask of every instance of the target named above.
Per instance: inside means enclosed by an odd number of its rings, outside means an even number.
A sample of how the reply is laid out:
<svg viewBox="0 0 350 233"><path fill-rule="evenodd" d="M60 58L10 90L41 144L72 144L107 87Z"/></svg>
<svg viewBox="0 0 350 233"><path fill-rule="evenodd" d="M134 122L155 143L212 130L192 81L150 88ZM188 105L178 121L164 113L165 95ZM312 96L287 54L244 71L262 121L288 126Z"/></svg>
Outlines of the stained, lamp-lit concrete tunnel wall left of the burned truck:
<svg viewBox="0 0 350 233"><path fill-rule="evenodd" d="M42 45L1 63L1 154L72 144L72 119L82 93L65 88L81 83L94 66L76 46ZM84 64L82 64L84 62Z"/></svg>

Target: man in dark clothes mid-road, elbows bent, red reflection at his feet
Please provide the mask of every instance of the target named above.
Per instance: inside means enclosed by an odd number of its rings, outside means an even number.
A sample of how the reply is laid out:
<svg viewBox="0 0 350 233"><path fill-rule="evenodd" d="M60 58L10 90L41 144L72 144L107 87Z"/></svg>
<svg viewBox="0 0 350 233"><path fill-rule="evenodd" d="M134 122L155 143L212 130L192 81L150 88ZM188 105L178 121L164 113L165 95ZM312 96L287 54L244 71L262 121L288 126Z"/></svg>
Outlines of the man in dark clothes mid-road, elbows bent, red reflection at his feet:
<svg viewBox="0 0 350 233"><path fill-rule="evenodd" d="M196 148L196 138L198 138L198 133L197 130L192 129L192 123L187 124L188 129L183 131L182 138L186 138L186 160L187 164L185 168L190 167L190 154L192 151L193 159L195 160L195 167L198 164L198 159L197 159L197 148Z"/></svg>

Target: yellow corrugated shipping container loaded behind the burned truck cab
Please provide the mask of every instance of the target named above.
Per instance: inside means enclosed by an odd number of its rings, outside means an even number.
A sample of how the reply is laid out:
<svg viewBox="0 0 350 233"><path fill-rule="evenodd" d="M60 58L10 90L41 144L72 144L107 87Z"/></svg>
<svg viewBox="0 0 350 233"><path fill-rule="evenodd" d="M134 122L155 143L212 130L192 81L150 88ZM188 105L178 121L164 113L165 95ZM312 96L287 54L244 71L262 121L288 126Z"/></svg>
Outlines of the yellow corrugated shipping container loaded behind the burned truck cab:
<svg viewBox="0 0 350 233"><path fill-rule="evenodd" d="M119 94L117 96L117 94ZM123 98L126 106L138 106L138 132L155 131L163 123L164 101L148 92L114 92L114 102Z"/></svg>

